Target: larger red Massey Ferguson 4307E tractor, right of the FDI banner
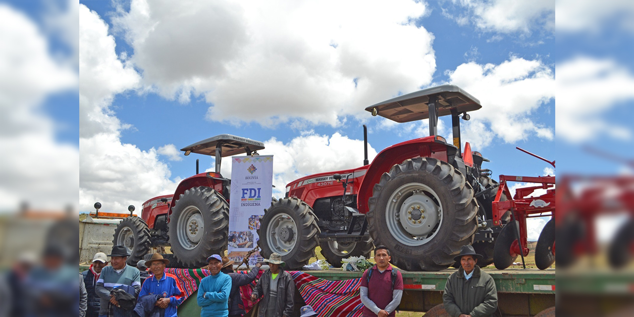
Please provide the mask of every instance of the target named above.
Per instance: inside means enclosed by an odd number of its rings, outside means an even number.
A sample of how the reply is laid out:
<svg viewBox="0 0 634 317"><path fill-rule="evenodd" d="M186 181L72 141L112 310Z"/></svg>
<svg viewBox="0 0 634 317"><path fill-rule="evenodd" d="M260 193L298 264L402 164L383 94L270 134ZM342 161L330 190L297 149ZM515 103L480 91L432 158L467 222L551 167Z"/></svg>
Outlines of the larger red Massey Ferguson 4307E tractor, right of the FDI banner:
<svg viewBox="0 0 634 317"><path fill-rule="evenodd" d="M462 149L460 139L460 117L469 120L467 112L481 107L459 87L445 85L366 108L396 122L429 119L429 136L389 146L370 164L364 130L363 166L292 181L285 198L265 210L261 255L278 252L288 267L301 268L320 245L328 262L341 266L344 257L368 257L374 243L387 246L399 268L436 271L474 243L491 264L499 234L491 203L498 186L482 168L488 160L469 143ZM452 143L437 135L443 115L451 115Z"/></svg>

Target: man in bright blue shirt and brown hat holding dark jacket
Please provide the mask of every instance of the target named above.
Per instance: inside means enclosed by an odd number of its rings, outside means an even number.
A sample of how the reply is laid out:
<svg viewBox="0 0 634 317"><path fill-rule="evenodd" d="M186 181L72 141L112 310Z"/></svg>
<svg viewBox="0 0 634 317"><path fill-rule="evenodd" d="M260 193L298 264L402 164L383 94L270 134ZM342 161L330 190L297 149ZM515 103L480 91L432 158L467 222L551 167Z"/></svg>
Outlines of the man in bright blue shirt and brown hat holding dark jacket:
<svg viewBox="0 0 634 317"><path fill-rule="evenodd" d="M143 282L143 286L141 286L139 304L141 304L145 296L158 295L154 306L159 307L159 309L165 309L162 316L176 317L176 310L183 302L183 292L178 288L176 276L165 273L167 264L169 264L169 260L164 259L160 253L153 254L152 258L145 262L145 265L150 268L153 275L146 279Z"/></svg>

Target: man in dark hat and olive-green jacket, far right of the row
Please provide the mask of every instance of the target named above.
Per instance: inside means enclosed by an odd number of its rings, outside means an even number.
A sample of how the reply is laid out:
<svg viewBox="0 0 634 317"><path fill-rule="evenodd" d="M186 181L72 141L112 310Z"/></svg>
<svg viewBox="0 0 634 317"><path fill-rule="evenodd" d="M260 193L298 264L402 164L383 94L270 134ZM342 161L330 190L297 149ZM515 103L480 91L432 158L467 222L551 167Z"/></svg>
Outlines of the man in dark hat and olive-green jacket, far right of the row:
<svg viewBox="0 0 634 317"><path fill-rule="evenodd" d="M482 256L465 245L454 258L460 268L447 278L444 287L444 309L453 317L493 316L498 307L495 281L477 266Z"/></svg>

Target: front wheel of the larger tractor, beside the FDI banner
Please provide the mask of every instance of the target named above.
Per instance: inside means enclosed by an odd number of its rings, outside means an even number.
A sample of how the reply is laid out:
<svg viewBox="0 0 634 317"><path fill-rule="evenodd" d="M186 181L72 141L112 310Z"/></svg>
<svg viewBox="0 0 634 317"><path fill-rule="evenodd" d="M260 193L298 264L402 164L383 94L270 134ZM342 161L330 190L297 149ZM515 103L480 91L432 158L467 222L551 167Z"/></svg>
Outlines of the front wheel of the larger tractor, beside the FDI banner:
<svg viewBox="0 0 634 317"><path fill-rule="evenodd" d="M285 269L301 269L315 256L320 228L313 209L298 198L281 198L271 202L260 220L260 255L265 259L277 252Z"/></svg>

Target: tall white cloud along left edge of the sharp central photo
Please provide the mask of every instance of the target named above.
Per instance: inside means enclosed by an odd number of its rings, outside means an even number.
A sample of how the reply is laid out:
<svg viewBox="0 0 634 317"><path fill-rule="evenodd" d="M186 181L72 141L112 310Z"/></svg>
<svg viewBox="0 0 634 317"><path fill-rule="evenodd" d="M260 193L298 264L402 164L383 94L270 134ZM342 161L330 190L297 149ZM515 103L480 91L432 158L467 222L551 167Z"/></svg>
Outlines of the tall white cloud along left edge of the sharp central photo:
<svg viewBox="0 0 634 317"><path fill-rule="evenodd" d="M169 179L171 172L157 150L121 142L121 131L129 125L120 122L110 105L115 94L139 87L140 77L115 55L108 25L84 5L79 26L79 208L92 210L99 201L103 210L124 212L127 205L136 205L140 213L145 200L173 193L177 183Z"/></svg>

